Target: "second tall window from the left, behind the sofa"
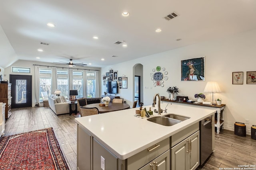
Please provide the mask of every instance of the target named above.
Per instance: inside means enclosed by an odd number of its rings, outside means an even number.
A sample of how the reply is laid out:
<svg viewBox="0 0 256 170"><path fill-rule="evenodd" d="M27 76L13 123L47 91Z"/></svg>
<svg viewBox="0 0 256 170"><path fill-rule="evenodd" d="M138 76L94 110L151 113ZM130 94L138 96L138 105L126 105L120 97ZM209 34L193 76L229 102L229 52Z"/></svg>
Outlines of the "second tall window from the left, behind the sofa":
<svg viewBox="0 0 256 170"><path fill-rule="evenodd" d="M69 98L68 94L68 71L57 70L57 89L61 91L61 96Z"/></svg>

